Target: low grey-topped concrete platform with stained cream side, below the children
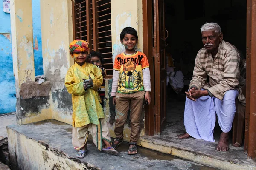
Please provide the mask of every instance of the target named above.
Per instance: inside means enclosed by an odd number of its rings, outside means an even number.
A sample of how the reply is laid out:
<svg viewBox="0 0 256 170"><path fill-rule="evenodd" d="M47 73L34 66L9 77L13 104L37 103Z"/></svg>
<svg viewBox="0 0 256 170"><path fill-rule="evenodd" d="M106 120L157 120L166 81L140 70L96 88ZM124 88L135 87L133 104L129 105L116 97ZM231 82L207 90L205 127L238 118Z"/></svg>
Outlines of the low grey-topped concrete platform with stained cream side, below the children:
<svg viewBox="0 0 256 170"><path fill-rule="evenodd" d="M89 140L88 153L76 158L72 146L72 127L56 120L7 127L12 170L215 170L175 156L138 148L138 154L127 154L128 143L118 147L112 156L96 149Z"/></svg>

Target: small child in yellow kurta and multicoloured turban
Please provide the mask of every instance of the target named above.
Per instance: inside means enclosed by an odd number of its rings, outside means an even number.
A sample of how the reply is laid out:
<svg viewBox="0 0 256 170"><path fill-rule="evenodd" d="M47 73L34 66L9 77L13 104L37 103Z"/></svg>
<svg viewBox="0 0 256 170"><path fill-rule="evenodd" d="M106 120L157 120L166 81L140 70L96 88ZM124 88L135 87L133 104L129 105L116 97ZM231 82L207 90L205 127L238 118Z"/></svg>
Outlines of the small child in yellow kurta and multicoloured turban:
<svg viewBox="0 0 256 170"><path fill-rule="evenodd" d="M85 62L90 50L88 45L86 41L74 40L69 46L75 59L65 78L67 91L72 94L72 144L79 151L76 156L84 158L90 129L93 143L100 151L117 155L118 152L111 147L108 125L99 102L97 90L102 85L102 74L96 65ZM105 144L103 149L102 142Z"/></svg>

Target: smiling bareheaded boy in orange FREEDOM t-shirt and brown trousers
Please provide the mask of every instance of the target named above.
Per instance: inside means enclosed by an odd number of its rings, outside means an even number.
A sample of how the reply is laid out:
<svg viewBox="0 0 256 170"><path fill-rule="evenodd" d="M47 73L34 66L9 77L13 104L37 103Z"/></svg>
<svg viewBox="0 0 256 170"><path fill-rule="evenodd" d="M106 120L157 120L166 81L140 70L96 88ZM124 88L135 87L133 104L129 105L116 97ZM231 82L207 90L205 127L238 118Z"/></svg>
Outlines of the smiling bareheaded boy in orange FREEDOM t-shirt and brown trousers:
<svg viewBox="0 0 256 170"><path fill-rule="evenodd" d="M111 96L116 105L115 134L112 146L116 149L123 141L123 129L130 109L131 134L128 154L136 154L136 142L140 131L140 116L144 101L151 102L150 72L145 54L135 50L138 43L137 31L126 27L120 34L125 52L115 58ZM117 93L116 93L117 92Z"/></svg>

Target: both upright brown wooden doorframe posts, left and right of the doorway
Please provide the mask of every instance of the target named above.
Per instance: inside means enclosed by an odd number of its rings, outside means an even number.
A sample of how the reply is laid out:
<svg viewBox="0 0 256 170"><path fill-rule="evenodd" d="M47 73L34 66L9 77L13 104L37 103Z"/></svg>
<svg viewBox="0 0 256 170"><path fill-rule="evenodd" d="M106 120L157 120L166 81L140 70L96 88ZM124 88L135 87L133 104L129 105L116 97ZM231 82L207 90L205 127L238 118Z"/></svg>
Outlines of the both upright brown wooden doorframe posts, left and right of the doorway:
<svg viewBox="0 0 256 170"><path fill-rule="evenodd" d="M151 65L151 98L152 105L145 108L145 134L152 136L155 131L155 85L154 85L154 52L153 52L153 6L152 0L143 3L143 51ZM247 35L246 35L246 122L244 152L250 158L256 158L256 0L247 0Z"/></svg>

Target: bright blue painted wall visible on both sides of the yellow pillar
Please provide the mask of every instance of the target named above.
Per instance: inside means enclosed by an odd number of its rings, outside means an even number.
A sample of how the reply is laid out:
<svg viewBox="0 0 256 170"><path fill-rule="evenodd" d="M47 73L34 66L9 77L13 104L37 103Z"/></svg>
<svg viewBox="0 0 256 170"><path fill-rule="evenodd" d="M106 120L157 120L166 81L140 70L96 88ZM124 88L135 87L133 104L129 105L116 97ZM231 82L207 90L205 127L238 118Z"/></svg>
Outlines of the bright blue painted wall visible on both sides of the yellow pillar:
<svg viewBox="0 0 256 170"><path fill-rule="evenodd" d="M32 0L35 75L43 74L40 0ZM16 91L12 65L10 14L0 1L0 114L15 112ZM35 42L38 43L35 43ZM38 48L37 48L38 47ZM37 48L37 49L35 49Z"/></svg>

